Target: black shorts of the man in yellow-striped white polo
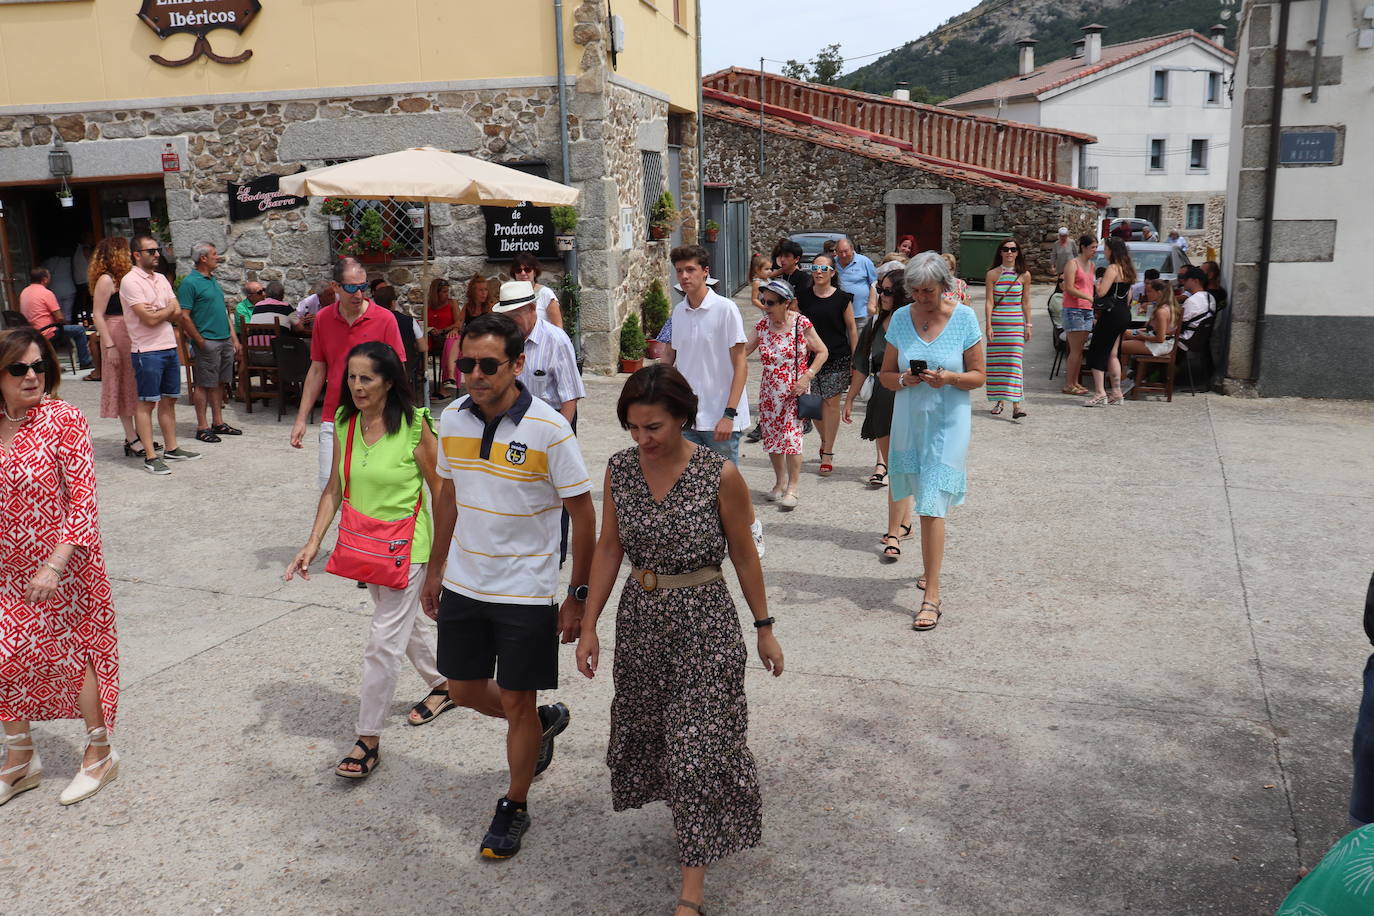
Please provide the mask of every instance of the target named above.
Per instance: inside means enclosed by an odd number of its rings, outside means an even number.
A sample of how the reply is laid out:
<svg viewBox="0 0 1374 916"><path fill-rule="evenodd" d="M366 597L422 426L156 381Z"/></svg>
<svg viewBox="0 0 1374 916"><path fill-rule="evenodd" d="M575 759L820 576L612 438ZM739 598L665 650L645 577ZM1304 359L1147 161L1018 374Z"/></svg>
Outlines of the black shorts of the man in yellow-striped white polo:
<svg viewBox="0 0 1374 916"><path fill-rule="evenodd" d="M455 681L496 676L507 691L558 687L558 606L497 604L444 589L438 673Z"/></svg>

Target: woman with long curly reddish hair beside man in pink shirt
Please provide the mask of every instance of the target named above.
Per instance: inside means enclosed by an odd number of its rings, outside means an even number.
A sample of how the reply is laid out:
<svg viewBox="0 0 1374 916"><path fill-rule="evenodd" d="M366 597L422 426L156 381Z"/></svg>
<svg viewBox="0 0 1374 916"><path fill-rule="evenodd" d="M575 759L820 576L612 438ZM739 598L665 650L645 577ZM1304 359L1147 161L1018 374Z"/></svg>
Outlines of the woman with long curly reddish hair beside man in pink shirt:
<svg viewBox="0 0 1374 916"><path fill-rule="evenodd" d="M100 335L100 416L120 417L124 424L125 457L147 457L133 428L139 390L133 380L133 360L129 357L129 328L125 324L124 304L120 302L120 280L133 269L129 240L121 236L100 239L87 265L91 284L91 317ZM137 320L137 319L135 319ZM161 448L157 442L153 448Z"/></svg>

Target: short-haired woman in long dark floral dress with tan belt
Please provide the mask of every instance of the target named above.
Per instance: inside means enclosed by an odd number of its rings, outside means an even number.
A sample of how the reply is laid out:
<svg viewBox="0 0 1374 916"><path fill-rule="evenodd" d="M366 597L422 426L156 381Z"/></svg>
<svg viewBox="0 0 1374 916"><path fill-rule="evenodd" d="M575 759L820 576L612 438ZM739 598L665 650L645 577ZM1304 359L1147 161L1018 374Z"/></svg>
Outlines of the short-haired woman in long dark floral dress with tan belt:
<svg viewBox="0 0 1374 916"><path fill-rule="evenodd" d="M636 446L611 456L606 470L577 670L596 674L596 621L628 553L606 750L611 805L668 802L682 862L676 916L691 916L703 912L706 867L763 835L758 775L745 743L747 651L721 573L727 551L754 618L758 658L775 677L782 648L749 533L745 479L683 438L697 416L691 386L671 365L644 367L625 382L616 411Z"/></svg>

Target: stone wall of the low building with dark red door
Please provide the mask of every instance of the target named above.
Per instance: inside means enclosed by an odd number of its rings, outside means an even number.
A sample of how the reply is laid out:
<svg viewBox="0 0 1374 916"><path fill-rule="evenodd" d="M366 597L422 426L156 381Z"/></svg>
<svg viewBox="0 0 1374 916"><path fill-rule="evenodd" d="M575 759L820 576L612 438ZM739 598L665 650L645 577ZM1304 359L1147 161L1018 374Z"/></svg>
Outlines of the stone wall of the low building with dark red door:
<svg viewBox="0 0 1374 916"><path fill-rule="evenodd" d="M889 242L885 196L894 191L930 191L949 202L951 253L959 257L959 231L970 216L984 216L988 231L1006 232L1028 244L1030 272L1051 275L1050 246L1061 225L1077 235L1095 232L1096 209L1068 198L1035 199L999 188L969 184L856 152L769 133L765 174L758 176L758 130L712 118L706 125L706 181L731 185L731 196L749 201L750 246L769 251L785 235L813 228L845 229L870 255L881 258Z"/></svg>

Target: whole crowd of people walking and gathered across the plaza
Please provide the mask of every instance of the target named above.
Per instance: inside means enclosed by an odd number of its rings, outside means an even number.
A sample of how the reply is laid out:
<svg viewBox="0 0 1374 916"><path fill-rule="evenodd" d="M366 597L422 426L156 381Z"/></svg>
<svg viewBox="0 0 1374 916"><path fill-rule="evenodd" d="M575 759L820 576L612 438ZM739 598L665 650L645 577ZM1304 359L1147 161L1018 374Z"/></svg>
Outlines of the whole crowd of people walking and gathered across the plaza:
<svg viewBox="0 0 1374 916"><path fill-rule="evenodd" d="M396 290L370 282L349 258L295 306L273 280L247 284L245 302L225 309L213 246L194 247L195 271L173 293L155 271L157 243L132 242L95 247L89 288L107 350L102 416L121 420L125 453L151 472L199 457L176 438L177 330L190 345L203 442L240 433L224 420L223 393L251 328L271 321L311 332L290 442L304 445L309 409L323 398L320 496L284 578L311 578L338 516L326 569L367 588L374 607L354 742L335 765L339 777L364 780L381 765L386 710L407 658L427 687L409 725L456 707L506 721L510 780L478 849L488 858L515 856L532 825L532 780L551 765L555 739L572 720L566 703L540 705L537 694L558 687L559 641L576 641L578 672L596 676L596 623L629 559L617 608L611 798L616 810L668 802L682 867L679 916L701 912L712 862L761 839L746 743L747 652L724 585L727 555L757 628L757 654L774 676L783 670L761 571L764 530L738 470L741 439L753 426L747 356L757 350L763 367L756 431L774 470L765 500L782 509L800 505L808 428L819 430L818 474L833 474L841 424L852 424L856 401L866 398L860 435L877 453L867 482L888 488L879 555L894 562L919 536L916 630L936 628L944 614L945 519L967 492L973 391L987 386L993 415L1010 402L1013 419L1026 416L1030 276L1014 238L999 244L985 272L982 321L952 255L916 253L910 236L879 264L848 239L811 264L796 243L779 244L774 258L754 261L752 297L761 314L747 323L712 288L708 251L677 247L671 258L682 301L664 325L664 358L631 375L620 394L617 419L633 445L605 470L598 534L592 477L577 441L587 391L556 297L539 283L532 258L518 258L515 279L499 286L471 277L463 304L447 280L434 280L426 335L396 310ZM1114 238L1106 271L1094 277L1095 244L1084 236L1076 251L1062 246L1065 330L1070 352L1080 360L1087 352L1090 405L1120 402L1121 356L1186 341L1198 309L1216 308L1197 268L1182 275L1182 304L1157 277L1138 283ZM1136 295L1149 321L1131 330ZM0 332L0 457L5 485L26 496L7 509L0 537L23 531L41 548L15 548L25 562L0 584L0 645L34 647L0 658L19 684L0 706L0 805L40 783L32 720L80 715L87 724L85 757L63 803L89 798L118 772L110 746L118 652L93 455L85 419L55 397L60 368L51 338L65 330L60 308L48 306L44 298L34 310L45 327ZM1070 314L1080 310L1087 314ZM430 352L442 367L442 390L463 390L437 417L420 407L416 383L425 375L414 371ZM154 409L164 442L153 437ZM418 625L422 612L437 621L436 634ZM56 633L55 645L38 648L34 628Z"/></svg>

